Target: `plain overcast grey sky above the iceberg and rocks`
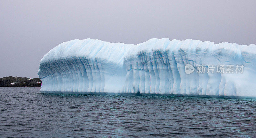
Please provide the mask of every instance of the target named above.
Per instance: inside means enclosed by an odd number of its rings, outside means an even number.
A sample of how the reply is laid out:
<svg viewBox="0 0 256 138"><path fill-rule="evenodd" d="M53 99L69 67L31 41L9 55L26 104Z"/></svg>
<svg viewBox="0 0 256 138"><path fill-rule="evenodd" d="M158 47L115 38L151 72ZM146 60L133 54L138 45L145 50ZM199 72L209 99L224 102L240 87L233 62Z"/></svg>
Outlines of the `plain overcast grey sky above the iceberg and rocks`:
<svg viewBox="0 0 256 138"><path fill-rule="evenodd" d="M165 37L256 44L256 1L0 0L0 77L38 77L44 54L68 40Z"/></svg>

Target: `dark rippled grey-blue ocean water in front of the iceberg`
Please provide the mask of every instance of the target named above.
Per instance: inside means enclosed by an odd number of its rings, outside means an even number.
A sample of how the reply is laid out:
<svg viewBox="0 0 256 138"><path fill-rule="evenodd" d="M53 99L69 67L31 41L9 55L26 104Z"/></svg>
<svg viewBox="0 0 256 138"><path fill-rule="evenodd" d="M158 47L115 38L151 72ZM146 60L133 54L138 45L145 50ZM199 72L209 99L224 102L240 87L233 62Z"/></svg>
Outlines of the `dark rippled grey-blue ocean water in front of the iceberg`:
<svg viewBox="0 0 256 138"><path fill-rule="evenodd" d="M41 94L0 87L0 137L256 137L255 99Z"/></svg>

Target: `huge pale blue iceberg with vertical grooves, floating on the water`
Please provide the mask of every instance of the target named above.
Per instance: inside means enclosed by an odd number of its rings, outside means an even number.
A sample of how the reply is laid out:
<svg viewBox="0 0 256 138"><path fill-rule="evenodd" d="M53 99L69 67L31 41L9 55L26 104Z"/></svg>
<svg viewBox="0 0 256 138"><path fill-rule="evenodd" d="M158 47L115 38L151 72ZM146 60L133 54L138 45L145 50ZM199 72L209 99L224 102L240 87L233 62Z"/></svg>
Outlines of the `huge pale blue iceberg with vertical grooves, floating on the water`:
<svg viewBox="0 0 256 138"><path fill-rule="evenodd" d="M212 68L219 65L234 70ZM243 69L236 70L237 65ZM256 45L169 38L137 45L71 40L44 55L38 75L42 93L255 98Z"/></svg>

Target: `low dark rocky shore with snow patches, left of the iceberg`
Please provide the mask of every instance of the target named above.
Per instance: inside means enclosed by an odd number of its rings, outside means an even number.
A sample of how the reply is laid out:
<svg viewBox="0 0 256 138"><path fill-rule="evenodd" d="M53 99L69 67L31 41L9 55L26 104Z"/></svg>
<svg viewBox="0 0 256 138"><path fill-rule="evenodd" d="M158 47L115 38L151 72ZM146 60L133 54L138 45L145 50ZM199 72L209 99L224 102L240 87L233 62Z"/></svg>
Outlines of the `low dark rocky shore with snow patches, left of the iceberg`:
<svg viewBox="0 0 256 138"><path fill-rule="evenodd" d="M30 79L27 77L3 77L0 78L0 87L41 87L42 81L39 78Z"/></svg>

